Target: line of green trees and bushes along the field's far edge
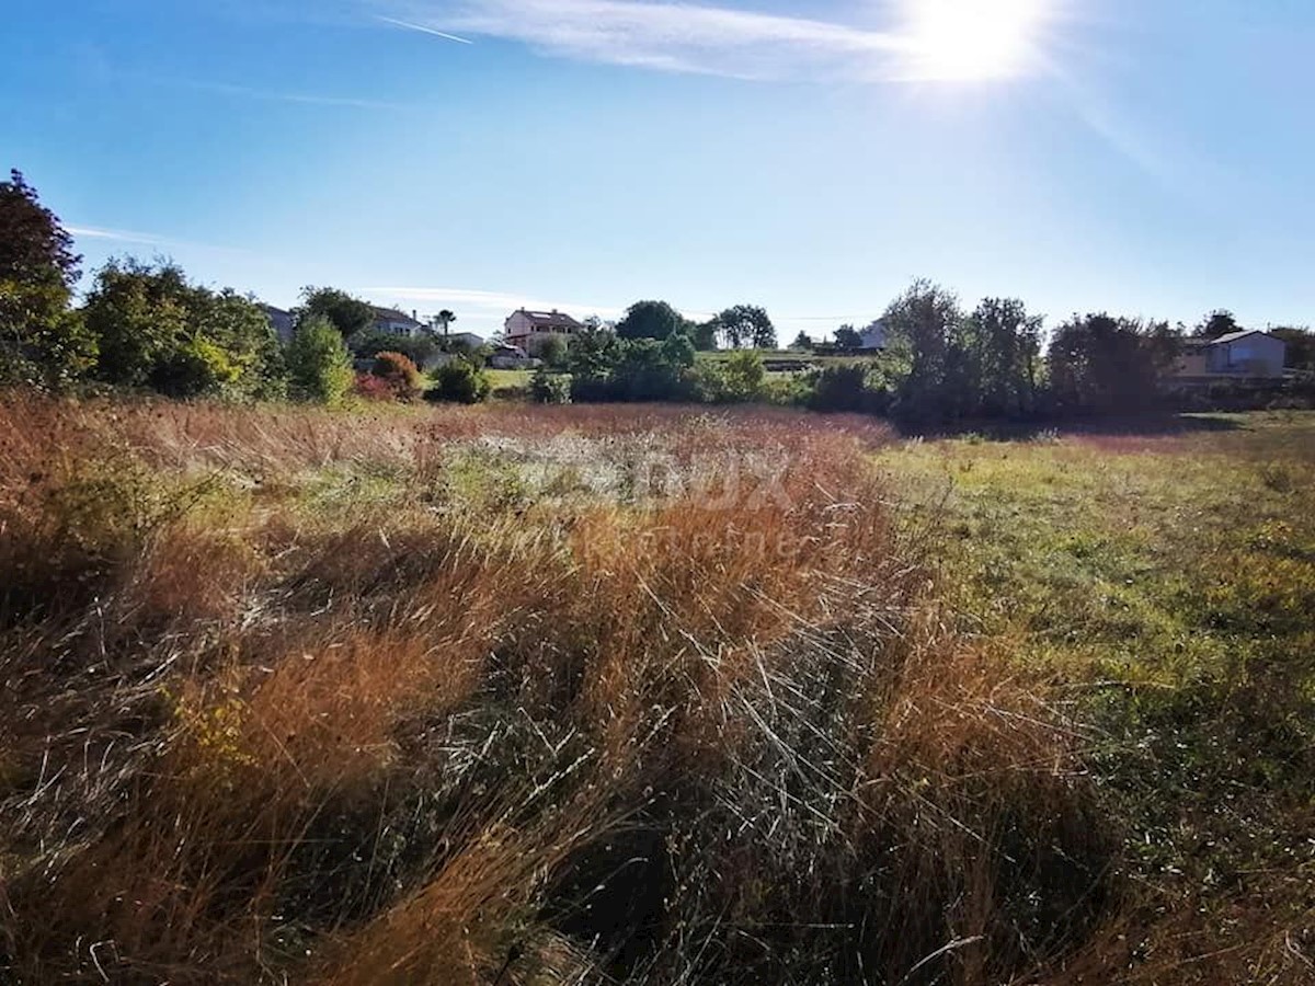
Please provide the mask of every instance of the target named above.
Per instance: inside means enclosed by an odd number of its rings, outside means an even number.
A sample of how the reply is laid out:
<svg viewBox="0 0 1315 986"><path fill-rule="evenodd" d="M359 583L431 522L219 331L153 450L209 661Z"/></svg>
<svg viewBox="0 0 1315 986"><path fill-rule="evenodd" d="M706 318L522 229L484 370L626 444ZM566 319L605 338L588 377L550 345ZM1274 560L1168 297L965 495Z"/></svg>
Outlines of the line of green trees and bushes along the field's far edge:
<svg viewBox="0 0 1315 986"><path fill-rule="evenodd" d="M302 291L283 344L252 298L191 283L170 262L112 260L75 305L80 263L59 220L12 172L0 183L0 381L172 397L333 404L356 390L412 400L425 384L417 364L451 348L444 337L381 337L368 302L314 287ZM439 316L444 329L455 319ZM1181 325L1091 313L1047 339L1043 318L1016 298L985 298L968 310L926 280L892 301L881 325L886 346L874 358L769 373L760 351L775 350L777 335L761 306L734 305L698 322L665 301L639 301L615 325L592 319L569 346L552 342L531 393L543 401L772 401L924 423L1122 413L1162 402L1162 380L1189 335ZM1190 334L1239 329L1219 310ZM1293 365L1315 369L1315 337L1272 333L1289 343ZM842 326L827 352L843 356L860 344L859 333ZM794 346L814 343L801 333ZM730 352L707 355L714 350ZM362 360L368 369L358 373ZM448 354L427 396L483 400L481 364L479 352Z"/></svg>

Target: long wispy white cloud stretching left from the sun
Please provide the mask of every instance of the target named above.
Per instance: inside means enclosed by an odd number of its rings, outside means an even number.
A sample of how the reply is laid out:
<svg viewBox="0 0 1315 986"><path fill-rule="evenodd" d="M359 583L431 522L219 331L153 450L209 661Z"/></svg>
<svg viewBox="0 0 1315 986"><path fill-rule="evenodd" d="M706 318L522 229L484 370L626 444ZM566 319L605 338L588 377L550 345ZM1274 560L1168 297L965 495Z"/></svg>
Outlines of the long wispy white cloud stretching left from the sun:
<svg viewBox="0 0 1315 986"><path fill-rule="evenodd" d="M517 41L546 54L742 79L906 74L905 34L809 17L647 0L368 0L389 22Z"/></svg>

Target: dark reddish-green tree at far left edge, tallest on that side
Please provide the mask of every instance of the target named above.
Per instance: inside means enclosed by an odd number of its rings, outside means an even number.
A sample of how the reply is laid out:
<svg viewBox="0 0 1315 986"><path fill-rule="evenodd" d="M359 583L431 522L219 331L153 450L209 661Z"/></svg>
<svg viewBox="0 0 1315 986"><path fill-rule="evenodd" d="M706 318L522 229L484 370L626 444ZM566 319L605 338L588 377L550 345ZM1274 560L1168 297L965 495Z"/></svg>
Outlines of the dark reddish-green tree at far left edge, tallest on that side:
<svg viewBox="0 0 1315 986"><path fill-rule="evenodd" d="M82 258L22 174L0 183L0 380L58 387L89 369L95 340L68 310Z"/></svg>

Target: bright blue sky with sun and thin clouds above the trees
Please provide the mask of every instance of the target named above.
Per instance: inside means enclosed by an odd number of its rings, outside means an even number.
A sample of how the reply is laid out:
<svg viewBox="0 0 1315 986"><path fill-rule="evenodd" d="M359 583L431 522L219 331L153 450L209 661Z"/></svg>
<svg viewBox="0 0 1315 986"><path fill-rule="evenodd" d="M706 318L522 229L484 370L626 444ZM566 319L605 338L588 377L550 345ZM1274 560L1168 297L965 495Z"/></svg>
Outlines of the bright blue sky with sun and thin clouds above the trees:
<svg viewBox="0 0 1315 986"><path fill-rule="evenodd" d="M447 35L447 37L444 37ZM1315 322L1310 0L17 0L0 164L168 255L490 333L967 302Z"/></svg>

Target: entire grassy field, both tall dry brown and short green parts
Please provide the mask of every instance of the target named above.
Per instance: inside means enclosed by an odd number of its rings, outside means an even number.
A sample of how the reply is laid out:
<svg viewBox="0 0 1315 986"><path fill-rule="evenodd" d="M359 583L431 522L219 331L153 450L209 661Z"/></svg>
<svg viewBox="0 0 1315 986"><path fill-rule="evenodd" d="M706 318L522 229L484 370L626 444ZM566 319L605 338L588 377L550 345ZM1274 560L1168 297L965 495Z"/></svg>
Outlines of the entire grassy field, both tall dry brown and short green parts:
<svg viewBox="0 0 1315 986"><path fill-rule="evenodd" d="M1310 982L1312 480L0 396L0 981Z"/></svg>

